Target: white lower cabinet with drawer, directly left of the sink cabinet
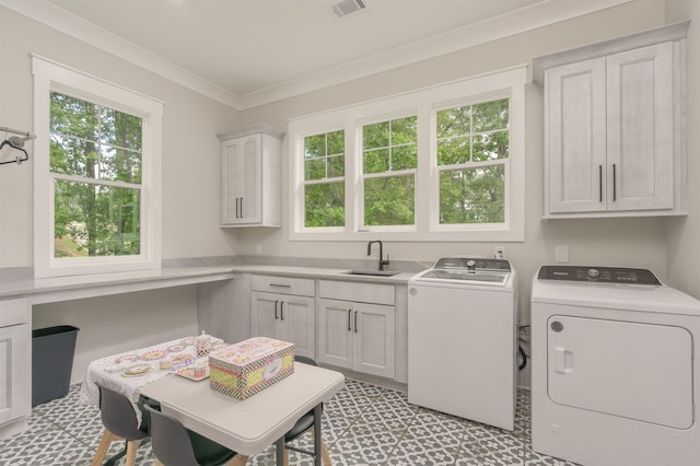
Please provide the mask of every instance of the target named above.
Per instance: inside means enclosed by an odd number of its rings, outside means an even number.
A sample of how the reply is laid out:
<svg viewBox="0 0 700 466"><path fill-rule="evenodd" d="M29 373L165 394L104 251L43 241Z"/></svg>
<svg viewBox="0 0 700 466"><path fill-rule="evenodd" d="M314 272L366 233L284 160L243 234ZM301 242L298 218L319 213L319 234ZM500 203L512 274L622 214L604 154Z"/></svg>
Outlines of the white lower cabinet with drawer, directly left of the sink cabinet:
<svg viewBox="0 0 700 466"><path fill-rule="evenodd" d="M315 358L314 280L253 276L250 288L252 335L292 342L295 354Z"/></svg>

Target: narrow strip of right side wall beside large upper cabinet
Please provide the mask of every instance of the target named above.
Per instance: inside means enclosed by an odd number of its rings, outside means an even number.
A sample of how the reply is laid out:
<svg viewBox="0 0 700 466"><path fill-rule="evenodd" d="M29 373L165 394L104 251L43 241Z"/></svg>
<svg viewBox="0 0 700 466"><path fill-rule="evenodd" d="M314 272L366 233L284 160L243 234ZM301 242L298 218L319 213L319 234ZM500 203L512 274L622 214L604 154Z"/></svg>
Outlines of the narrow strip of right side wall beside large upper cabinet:
<svg viewBox="0 0 700 466"><path fill-rule="evenodd" d="M688 211L684 219L666 222L668 236L668 282L693 296L700 298L700 2L698 0L669 0L668 22L691 20L688 31Z"/></svg>

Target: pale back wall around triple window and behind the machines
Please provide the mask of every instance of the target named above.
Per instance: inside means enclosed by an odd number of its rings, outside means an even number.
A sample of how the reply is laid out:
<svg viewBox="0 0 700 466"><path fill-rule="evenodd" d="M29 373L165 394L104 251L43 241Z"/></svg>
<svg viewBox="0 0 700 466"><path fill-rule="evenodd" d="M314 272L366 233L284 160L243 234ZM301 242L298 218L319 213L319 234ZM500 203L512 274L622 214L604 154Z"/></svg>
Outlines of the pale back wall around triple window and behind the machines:
<svg viewBox="0 0 700 466"><path fill-rule="evenodd" d="M504 69L558 50L644 31L665 24L664 2L638 0L576 20L542 27L494 43L464 49L330 89L245 110L249 123L267 121L282 129L287 120L302 115L420 89ZM666 278L666 235L663 219L605 219L541 221L542 213L542 93L536 84L526 90L526 230L524 243L506 243L506 257L520 273L522 310L528 319L530 279L536 269L553 261L556 245L570 247L571 264L616 265L653 269ZM289 154L287 155L289 158ZM289 163L287 163L289 165ZM287 173L287 166L285 172ZM288 179L288 176L283 176ZM287 187L285 187L287 189ZM289 219L279 231L262 234L232 231L240 241L238 253L284 256L366 257L364 242L318 243L289 241ZM396 259L434 260L443 255L489 256L494 243L390 242L385 251Z"/></svg>

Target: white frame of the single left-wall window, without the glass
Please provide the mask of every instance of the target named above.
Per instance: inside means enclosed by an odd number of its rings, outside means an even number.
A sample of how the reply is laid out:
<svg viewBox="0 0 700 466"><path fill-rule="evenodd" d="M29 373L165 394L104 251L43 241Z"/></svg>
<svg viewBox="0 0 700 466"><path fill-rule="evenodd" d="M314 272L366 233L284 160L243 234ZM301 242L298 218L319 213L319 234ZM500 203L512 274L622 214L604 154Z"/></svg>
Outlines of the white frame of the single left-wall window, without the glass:
<svg viewBox="0 0 700 466"><path fill-rule="evenodd" d="M34 276L59 277L161 268L163 103L32 55L34 74ZM49 160L50 92L136 115L143 120L139 255L54 257L54 180Z"/></svg>

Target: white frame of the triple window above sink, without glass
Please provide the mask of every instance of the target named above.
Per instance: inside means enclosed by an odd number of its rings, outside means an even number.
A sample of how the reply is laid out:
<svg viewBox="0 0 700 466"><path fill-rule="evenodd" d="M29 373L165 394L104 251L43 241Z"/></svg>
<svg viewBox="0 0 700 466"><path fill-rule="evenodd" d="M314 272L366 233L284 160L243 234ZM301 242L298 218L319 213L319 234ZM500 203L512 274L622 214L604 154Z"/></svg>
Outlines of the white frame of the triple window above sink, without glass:
<svg viewBox="0 0 700 466"><path fill-rule="evenodd" d="M290 241L523 242L525 240L525 83L527 68L514 67L378 101L289 120L291 156L289 184ZM508 97L509 148L505 160L505 222L499 224L439 224L439 173L434 116L438 109ZM418 115L416 225L363 225L362 125L401 114ZM346 129L346 225L304 228L303 137Z"/></svg>

